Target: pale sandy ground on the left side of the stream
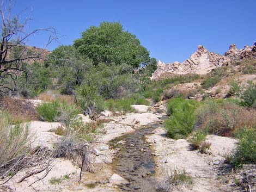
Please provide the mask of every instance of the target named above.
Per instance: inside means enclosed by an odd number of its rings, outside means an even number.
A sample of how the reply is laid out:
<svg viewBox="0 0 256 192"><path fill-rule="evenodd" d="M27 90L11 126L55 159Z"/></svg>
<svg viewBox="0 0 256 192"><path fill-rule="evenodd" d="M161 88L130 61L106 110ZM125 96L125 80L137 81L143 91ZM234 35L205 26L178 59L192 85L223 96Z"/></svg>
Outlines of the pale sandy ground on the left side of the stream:
<svg viewBox="0 0 256 192"><path fill-rule="evenodd" d="M53 168L48 173L48 175L41 179L41 181L36 182L32 187L28 187L35 179L42 177L45 174L45 171L40 174L33 175L25 179L21 183L17 183L20 178L26 175L27 172L40 169L38 167L29 168L23 170L16 174L8 183L10 188L15 189L15 192L21 191L102 191L102 192L111 192L111 191L120 191L117 186L113 183L108 183L109 178L113 175L112 167L109 163L112 163L114 158L114 151L111 150L108 142L114 138L117 138L123 134L134 131L132 127L139 128L142 125L148 125L149 123L159 121L161 114L153 113L141 113L141 114L127 114L121 117L106 117L112 119L113 121L104 123L105 133L102 135L97 135L96 141L100 143L93 143L94 149L96 152L99 152L98 156L92 154L93 161L95 161L95 172L83 172L81 182L78 183L80 169L72 165L69 160L62 158L57 158L53 162ZM125 121L124 121L125 120ZM136 122L139 121L138 122ZM125 125L125 124L129 125ZM60 123L50 123L50 122L40 122L32 121L30 122L31 131L35 135L35 139L32 143L32 146L47 146L52 148L53 144L58 141L61 137L54 134L54 129L58 126L61 126ZM64 175L69 175L69 179L63 179ZM60 184L51 184L50 180L52 178L62 178ZM2 183L2 181L0 181ZM94 185L93 188L90 185ZM1 188L0 188L1 191ZM8 190L6 190L8 191Z"/></svg>

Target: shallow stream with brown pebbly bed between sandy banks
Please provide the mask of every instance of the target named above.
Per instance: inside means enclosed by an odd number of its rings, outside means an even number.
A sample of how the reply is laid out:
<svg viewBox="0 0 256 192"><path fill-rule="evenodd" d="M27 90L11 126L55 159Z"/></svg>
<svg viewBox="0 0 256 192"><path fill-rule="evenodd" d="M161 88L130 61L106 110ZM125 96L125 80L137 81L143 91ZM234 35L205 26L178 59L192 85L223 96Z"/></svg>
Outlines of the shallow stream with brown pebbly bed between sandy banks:
<svg viewBox="0 0 256 192"><path fill-rule="evenodd" d="M154 123L112 140L113 143L126 141L112 163L115 174L129 181L129 184L119 186L121 190L156 191L153 151L150 150L150 144L145 141L145 135L150 135L160 126L161 122Z"/></svg>

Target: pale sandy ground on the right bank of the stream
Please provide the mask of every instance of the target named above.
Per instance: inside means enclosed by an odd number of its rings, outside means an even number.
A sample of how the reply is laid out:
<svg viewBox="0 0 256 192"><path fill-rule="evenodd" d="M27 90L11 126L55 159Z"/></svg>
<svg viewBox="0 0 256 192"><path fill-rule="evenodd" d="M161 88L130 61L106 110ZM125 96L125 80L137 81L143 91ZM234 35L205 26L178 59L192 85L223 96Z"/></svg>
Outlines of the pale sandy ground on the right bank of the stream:
<svg viewBox="0 0 256 192"><path fill-rule="evenodd" d="M206 141L211 143L211 154L191 151L186 140L168 139L166 131L155 129L154 134L147 136L147 142L153 144L153 151L159 154L159 157L155 157L156 178L161 181L174 169L185 170L193 177L193 184L181 185L173 191L222 191L217 168L223 163L224 157L234 150L237 141L216 135L208 135Z"/></svg>

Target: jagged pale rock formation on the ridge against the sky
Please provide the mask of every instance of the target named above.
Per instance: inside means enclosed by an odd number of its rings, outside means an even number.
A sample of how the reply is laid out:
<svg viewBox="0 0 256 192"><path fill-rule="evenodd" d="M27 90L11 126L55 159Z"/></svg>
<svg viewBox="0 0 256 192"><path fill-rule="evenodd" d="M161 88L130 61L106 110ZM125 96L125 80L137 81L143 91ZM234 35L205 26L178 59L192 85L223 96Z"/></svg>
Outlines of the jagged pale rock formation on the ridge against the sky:
<svg viewBox="0 0 256 192"><path fill-rule="evenodd" d="M197 51L182 63L175 61L174 63L164 64L159 60L157 70L153 73L151 79L188 73L203 75L216 67L250 58L256 60L256 42L253 46L245 46L243 49L237 49L236 45L232 44L224 55L209 52L204 46L198 45Z"/></svg>

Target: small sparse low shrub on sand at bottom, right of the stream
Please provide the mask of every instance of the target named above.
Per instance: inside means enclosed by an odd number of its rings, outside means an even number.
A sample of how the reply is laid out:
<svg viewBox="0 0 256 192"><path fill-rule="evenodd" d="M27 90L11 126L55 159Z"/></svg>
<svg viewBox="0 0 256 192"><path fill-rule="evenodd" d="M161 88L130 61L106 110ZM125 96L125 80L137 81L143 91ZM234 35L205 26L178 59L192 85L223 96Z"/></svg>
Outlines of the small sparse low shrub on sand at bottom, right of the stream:
<svg viewBox="0 0 256 192"><path fill-rule="evenodd" d="M178 185L191 185L193 184L193 179L187 174L186 170L174 169L170 173L168 172L168 178L164 179L156 185L156 191L173 191Z"/></svg>

